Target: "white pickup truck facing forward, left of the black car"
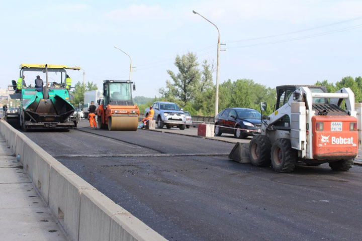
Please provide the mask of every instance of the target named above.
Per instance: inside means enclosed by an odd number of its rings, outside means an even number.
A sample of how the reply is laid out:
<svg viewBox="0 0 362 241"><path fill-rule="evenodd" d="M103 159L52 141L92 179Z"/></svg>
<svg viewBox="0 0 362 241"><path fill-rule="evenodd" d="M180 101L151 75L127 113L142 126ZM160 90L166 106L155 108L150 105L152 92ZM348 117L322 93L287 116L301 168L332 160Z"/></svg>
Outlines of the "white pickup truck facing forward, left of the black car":
<svg viewBox="0 0 362 241"><path fill-rule="evenodd" d="M157 121L157 128L162 129L166 126L167 129L171 127L178 127L180 130L186 128L186 115L177 104L172 102L156 101L152 104L154 110L153 119ZM149 113L149 108L145 109L144 116Z"/></svg>

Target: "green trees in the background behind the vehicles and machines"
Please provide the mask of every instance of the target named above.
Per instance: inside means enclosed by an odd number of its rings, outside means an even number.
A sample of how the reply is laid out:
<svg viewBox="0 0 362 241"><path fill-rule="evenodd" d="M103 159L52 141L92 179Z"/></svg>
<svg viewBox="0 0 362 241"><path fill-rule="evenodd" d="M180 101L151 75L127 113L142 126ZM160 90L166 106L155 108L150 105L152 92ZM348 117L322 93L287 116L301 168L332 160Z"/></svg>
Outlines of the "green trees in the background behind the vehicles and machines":
<svg viewBox="0 0 362 241"><path fill-rule="evenodd" d="M160 96L149 98L144 96L134 97L140 113L144 112L154 101L169 101L176 103L180 108L188 110L191 115L214 115L216 86L213 84L212 73L214 64L203 60L200 64L197 55L189 52L175 57L174 65L178 72L167 70L170 77L166 86L158 90ZM328 80L317 81L315 85L326 86L328 92L335 92L342 87L349 87L355 95L355 102L362 101L362 77L344 77L334 83ZM73 91L73 105L83 103L84 91L95 90L97 85L88 82L83 88L78 82ZM255 83L252 79L228 79L219 84L219 110L227 107L244 107L260 110L260 102L267 102L265 114L274 111L277 100L275 88Z"/></svg>

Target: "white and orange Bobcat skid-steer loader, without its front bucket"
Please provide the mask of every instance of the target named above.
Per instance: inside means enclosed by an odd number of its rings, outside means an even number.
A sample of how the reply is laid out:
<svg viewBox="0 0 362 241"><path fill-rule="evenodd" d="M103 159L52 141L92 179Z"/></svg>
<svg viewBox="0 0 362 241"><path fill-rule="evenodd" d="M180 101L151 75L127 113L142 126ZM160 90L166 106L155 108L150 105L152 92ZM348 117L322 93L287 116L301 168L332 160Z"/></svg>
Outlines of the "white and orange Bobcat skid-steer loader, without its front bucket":
<svg viewBox="0 0 362 241"><path fill-rule="evenodd" d="M349 88L327 93L324 86L278 86L275 111L263 115L261 123L261 135L249 145L255 166L271 164L277 172L291 172L301 161L348 171L358 154L357 112Z"/></svg>

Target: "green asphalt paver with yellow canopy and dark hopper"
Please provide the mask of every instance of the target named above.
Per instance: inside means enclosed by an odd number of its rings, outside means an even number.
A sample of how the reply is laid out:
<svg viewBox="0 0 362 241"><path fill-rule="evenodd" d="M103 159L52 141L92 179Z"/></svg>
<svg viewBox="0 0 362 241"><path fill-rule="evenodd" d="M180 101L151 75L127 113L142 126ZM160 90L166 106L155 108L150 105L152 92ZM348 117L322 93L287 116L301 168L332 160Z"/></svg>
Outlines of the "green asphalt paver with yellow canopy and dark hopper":
<svg viewBox="0 0 362 241"><path fill-rule="evenodd" d="M69 121L74 112L69 102L69 92L65 85L66 70L80 70L80 67L68 67L52 64L21 64L20 77L26 72L45 73L46 84L42 87L25 86L22 81L21 89L17 89L15 81L11 87L15 93L12 99L20 99L18 113L6 116L6 120L18 128L27 129L70 129L74 123ZM48 73L59 75L60 82L49 82ZM29 81L28 81L29 82Z"/></svg>

